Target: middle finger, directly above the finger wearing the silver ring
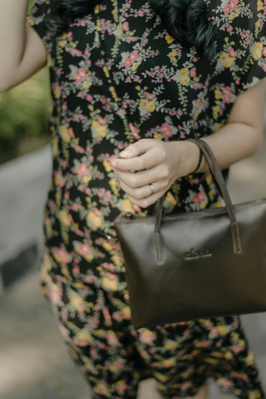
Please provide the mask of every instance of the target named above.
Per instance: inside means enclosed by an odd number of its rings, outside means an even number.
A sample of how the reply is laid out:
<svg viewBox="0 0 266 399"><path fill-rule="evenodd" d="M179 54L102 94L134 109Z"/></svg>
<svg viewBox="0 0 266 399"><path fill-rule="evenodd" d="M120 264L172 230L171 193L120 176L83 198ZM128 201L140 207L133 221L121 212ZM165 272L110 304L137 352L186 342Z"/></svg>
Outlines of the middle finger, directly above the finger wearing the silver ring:
<svg viewBox="0 0 266 399"><path fill-rule="evenodd" d="M131 188L142 187L153 182L162 182L165 187L168 185L169 171L166 164L137 173L116 169L116 174L124 184Z"/></svg>

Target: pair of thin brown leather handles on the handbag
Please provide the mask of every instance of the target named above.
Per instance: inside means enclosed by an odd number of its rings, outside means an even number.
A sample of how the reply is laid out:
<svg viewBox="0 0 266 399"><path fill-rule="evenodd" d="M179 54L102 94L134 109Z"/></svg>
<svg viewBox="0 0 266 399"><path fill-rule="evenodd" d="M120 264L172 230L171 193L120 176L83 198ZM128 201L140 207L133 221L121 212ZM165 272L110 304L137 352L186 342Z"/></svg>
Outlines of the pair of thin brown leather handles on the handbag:
<svg viewBox="0 0 266 399"><path fill-rule="evenodd" d="M189 139L188 141L191 141L192 143L196 144L201 149L209 165L210 172L221 190L222 197L225 202L226 211L230 221L234 254L240 255L242 253L242 246L241 246L238 222L236 220L234 207L229 192L227 190L221 169L218 165L217 159L215 158L214 153L212 153L209 145L205 141L198 139ZM156 260L158 264L163 263L162 238L161 238L160 229L162 223L163 205L164 205L165 196L166 193L161 198L158 199L155 209L154 233L155 233L156 258L157 258Z"/></svg>

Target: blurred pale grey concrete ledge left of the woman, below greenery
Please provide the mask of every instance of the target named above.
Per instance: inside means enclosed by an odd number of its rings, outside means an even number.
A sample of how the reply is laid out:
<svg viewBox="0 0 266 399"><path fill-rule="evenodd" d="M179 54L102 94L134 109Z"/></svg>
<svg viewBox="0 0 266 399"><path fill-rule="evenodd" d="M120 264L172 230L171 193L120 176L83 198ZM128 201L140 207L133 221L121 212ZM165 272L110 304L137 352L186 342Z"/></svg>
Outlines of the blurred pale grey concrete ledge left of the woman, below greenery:
<svg viewBox="0 0 266 399"><path fill-rule="evenodd" d="M12 268L20 276L19 265L24 262L28 270L34 259L35 264L39 260L51 156L50 145L46 145L0 167L0 292L11 281Z"/></svg>

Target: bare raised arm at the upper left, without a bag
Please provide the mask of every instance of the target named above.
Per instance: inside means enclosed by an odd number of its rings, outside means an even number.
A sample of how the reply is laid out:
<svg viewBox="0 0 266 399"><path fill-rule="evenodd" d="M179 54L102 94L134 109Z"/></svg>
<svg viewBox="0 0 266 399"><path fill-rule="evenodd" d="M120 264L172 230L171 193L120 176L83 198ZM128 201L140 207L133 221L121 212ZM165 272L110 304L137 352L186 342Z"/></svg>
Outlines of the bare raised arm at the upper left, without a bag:
<svg viewBox="0 0 266 399"><path fill-rule="evenodd" d="M9 90L46 64L41 38L25 22L28 0L0 2L0 92Z"/></svg>

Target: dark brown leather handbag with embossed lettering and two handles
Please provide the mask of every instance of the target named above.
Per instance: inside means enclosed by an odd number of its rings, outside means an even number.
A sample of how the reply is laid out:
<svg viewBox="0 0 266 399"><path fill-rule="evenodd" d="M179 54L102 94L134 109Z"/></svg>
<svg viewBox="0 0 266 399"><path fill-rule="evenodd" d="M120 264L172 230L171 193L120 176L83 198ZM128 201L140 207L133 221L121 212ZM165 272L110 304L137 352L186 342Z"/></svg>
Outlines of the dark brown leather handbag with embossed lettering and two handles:
<svg viewBox="0 0 266 399"><path fill-rule="evenodd" d="M266 311L266 199L232 205L210 147L202 150L225 207L162 217L120 215L132 325Z"/></svg>

